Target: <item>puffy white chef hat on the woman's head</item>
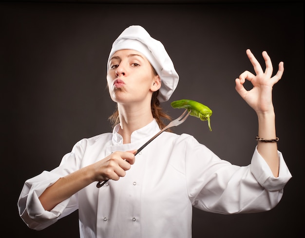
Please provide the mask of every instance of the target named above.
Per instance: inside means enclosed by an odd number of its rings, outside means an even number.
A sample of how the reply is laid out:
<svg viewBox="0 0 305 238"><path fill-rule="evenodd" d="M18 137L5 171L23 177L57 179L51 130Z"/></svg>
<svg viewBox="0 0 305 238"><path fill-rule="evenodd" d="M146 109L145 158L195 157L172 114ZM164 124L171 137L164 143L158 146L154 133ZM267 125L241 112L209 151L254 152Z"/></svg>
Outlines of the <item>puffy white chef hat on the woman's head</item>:
<svg viewBox="0 0 305 238"><path fill-rule="evenodd" d="M112 45L107 62L107 72L109 61L112 55L119 50L135 50L143 54L161 78L161 88L158 99L160 102L169 100L179 81L179 75L174 69L172 60L166 52L163 44L152 38L141 26L130 26L117 37Z"/></svg>

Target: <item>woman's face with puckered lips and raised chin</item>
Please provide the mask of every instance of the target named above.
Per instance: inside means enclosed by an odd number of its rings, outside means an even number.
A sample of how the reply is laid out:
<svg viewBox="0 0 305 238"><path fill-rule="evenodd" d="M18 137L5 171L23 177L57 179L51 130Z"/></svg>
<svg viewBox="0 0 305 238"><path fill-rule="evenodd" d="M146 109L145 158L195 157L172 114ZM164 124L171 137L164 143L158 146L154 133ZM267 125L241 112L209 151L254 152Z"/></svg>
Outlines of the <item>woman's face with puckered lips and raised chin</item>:
<svg viewBox="0 0 305 238"><path fill-rule="evenodd" d="M114 102L151 101L152 92L161 87L160 78L144 55L134 50L119 50L109 61L107 83Z"/></svg>

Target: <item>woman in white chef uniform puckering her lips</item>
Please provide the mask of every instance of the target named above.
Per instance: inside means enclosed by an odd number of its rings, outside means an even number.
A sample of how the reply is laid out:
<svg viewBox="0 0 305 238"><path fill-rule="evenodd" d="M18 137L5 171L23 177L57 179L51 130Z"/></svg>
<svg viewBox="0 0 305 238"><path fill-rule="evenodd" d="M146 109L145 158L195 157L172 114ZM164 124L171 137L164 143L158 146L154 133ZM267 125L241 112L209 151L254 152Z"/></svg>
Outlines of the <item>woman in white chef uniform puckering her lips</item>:
<svg viewBox="0 0 305 238"><path fill-rule="evenodd" d="M265 72L249 50L247 55L256 75L246 71L235 83L258 116L250 165L231 165L191 135L172 132L134 156L164 127L162 118L169 119L159 102L170 98L179 77L161 42L140 26L125 29L107 64L109 92L117 103L113 133L79 141L57 168L27 180L18 202L21 218L41 230L78 209L82 238L186 238L192 206L222 214L273 208L291 178L277 150L272 105L272 87L284 65L271 77L266 52ZM253 84L250 91L243 86L246 80Z"/></svg>

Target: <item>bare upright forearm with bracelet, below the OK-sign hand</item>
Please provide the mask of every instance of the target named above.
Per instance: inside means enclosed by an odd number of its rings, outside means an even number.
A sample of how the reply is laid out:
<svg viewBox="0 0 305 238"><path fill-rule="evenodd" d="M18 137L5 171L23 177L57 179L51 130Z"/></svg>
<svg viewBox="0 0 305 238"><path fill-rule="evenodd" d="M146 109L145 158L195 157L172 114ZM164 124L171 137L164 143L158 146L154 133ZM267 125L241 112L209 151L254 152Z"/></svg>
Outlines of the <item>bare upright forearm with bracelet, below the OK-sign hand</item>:
<svg viewBox="0 0 305 238"><path fill-rule="evenodd" d="M274 111L258 113L258 137L264 139L276 138ZM257 150L269 165L274 177L278 177L279 158L277 155L277 143L258 141Z"/></svg>

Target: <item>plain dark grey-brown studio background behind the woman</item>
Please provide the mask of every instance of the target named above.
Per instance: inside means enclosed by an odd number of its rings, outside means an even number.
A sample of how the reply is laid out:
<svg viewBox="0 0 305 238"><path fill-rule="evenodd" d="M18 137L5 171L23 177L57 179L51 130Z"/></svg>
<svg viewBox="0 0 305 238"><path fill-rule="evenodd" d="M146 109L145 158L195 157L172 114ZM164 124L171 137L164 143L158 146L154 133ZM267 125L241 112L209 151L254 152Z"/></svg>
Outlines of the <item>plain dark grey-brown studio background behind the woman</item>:
<svg viewBox="0 0 305 238"><path fill-rule="evenodd" d="M213 110L212 132L194 117L174 131L194 135L236 165L248 165L257 135L255 112L234 89L240 73L253 72L245 51L251 49L264 66L266 50L274 72L284 61L273 90L278 147L293 176L283 199L257 214L194 209L193 238L301 237L303 1L105 2L0 2L1 237L79 237L77 212L34 231L19 218L17 201L24 181L56 167L78 140L111 131L106 62L114 39L133 24L164 43L180 75L163 108L176 117L182 111L170 102L189 98Z"/></svg>

